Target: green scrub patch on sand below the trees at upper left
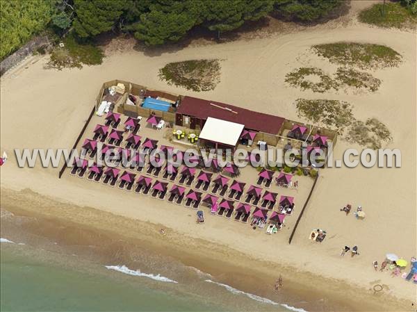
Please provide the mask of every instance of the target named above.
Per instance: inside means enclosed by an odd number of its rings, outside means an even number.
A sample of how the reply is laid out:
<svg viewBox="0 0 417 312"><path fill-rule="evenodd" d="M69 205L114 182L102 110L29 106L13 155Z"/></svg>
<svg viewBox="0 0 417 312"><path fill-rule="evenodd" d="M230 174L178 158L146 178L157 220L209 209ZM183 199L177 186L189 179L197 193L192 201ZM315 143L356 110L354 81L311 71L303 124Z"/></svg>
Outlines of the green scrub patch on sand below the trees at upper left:
<svg viewBox="0 0 417 312"><path fill-rule="evenodd" d="M56 69L99 65L103 62L104 53L92 44L81 44L71 35L63 41L64 47L56 46L51 52L48 66Z"/></svg>

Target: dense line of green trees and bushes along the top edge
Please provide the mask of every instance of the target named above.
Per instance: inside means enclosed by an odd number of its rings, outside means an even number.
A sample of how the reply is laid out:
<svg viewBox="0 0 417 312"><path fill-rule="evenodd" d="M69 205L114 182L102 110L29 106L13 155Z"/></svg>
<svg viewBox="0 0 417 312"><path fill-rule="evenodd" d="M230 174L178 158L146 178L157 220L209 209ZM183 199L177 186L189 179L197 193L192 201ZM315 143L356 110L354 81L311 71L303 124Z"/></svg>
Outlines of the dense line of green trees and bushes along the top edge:
<svg viewBox="0 0 417 312"><path fill-rule="evenodd" d="M14 0L1 1L1 58L47 24L62 35L94 38L107 31L133 33L145 44L177 42L202 26L220 35L273 13L310 22L342 0ZM4 22L6 21L6 22ZM3 24L6 24L3 26ZM6 37L3 37L6 36Z"/></svg>

